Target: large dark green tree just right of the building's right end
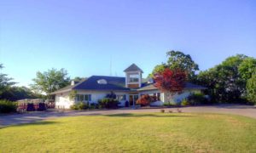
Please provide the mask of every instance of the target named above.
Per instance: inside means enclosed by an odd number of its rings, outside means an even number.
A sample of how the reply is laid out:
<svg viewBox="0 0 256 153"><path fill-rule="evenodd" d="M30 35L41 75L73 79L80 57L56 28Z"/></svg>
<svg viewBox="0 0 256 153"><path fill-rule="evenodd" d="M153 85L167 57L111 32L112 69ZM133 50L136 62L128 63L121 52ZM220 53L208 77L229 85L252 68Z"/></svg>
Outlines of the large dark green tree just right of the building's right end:
<svg viewBox="0 0 256 153"><path fill-rule="evenodd" d="M238 69L245 59L247 56L243 54L231 56L213 68L201 71L197 82L207 86L209 94L218 102L241 102L246 91L246 80Z"/></svg>

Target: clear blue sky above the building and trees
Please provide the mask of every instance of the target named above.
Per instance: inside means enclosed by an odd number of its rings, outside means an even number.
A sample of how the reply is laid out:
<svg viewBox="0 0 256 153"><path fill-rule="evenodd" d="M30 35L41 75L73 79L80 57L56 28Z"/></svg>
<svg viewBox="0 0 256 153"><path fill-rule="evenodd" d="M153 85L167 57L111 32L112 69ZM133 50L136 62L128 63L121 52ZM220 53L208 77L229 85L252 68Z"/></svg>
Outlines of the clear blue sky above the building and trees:
<svg viewBox="0 0 256 153"><path fill-rule="evenodd" d="M147 77L166 51L190 54L201 70L230 55L256 57L255 0L2 0L0 63L19 85L37 71L70 77Z"/></svg>

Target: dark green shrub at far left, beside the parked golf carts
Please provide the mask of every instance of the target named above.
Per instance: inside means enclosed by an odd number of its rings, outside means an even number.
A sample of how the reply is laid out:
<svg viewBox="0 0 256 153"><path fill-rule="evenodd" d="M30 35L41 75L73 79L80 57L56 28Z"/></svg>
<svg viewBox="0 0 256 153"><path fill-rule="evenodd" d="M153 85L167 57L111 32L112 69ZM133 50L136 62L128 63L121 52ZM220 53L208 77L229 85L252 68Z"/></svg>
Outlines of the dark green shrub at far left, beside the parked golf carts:
<svg viewBox="0 0 256 153"><path fill-rule="evenodd" d="M10 113L17 110L17 103L9 100L0 100L0 113Z"/></svg>

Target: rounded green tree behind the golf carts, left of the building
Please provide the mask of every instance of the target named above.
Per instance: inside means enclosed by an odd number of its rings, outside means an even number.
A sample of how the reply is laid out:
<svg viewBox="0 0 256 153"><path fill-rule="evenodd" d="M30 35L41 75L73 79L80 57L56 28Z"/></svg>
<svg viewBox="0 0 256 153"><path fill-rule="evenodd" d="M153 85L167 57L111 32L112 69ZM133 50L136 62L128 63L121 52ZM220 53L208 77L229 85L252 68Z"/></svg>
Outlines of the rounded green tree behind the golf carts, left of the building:
<svg viewBox="0 0 256 153"><path fill-rule="evenodd" d="M66 87L70 83L70 78L67 77L67 71L64 69L60 71L51 69L43 73L38 71L37 77L32 81L34 82L31 85L33 90L49 95L60 88Z"/></svg>

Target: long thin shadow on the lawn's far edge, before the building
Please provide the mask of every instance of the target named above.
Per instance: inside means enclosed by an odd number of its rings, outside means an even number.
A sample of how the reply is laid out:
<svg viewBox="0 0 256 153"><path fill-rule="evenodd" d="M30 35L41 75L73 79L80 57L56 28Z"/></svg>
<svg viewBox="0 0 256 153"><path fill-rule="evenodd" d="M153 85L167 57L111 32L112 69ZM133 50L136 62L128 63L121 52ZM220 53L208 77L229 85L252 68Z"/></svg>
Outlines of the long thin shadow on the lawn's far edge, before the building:
<svg viewBox="0 0 256 153"><path fill-rule="evenodd" d="M124 113L124 114L111 114L111 115L105 115L105 116L117 116L117 117L191 117L189 115L172 115L168 114L166 116L157 115L157 114L131 114L131 113Z"/></svg>

